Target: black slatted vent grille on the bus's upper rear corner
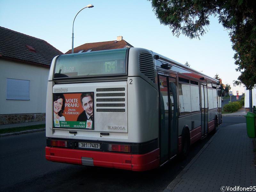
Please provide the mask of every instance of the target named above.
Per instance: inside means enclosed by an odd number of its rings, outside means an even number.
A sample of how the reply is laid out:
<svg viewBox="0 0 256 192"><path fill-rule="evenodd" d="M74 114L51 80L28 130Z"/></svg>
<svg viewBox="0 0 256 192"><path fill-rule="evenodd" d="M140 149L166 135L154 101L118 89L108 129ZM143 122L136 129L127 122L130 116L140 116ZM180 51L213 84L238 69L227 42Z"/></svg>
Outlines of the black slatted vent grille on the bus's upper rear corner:
<svg viewBox="0 0 256 192"><path fill-rule="evenodd" d="M140 53L139 68L140 68L140 73L147 76L153 83L156 83L154 59L150 53Z"/></svg>

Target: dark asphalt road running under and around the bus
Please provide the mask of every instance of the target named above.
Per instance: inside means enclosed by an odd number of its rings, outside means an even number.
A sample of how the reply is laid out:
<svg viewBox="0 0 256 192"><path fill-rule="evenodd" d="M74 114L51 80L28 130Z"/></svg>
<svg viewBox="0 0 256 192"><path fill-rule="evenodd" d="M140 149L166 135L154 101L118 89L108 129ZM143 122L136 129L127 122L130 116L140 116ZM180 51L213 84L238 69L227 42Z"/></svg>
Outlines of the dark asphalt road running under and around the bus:
<svg viewBox="0 0 256 192"><path fill-rule="evenodd" d="M223 117L219 128L244 123L242 116ZM0 138L0 191L163 191L211 138L193 144L178 158L155 170L131 172L45 160L45 132Z"/></svg>

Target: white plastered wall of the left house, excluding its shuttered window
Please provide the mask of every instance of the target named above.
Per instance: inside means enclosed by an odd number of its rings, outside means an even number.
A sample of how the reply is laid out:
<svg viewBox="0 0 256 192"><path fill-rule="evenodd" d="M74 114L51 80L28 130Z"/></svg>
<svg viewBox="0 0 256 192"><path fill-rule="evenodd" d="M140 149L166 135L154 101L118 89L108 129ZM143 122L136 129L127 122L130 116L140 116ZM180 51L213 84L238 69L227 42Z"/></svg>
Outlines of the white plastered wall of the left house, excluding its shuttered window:
<svg viewBox="0 0 256 192"><path fill-rule="evenodd" d="M49 69L0 59L0 114L45 113ZM30 100L6 100L6 78L30 80Z"/></svg>

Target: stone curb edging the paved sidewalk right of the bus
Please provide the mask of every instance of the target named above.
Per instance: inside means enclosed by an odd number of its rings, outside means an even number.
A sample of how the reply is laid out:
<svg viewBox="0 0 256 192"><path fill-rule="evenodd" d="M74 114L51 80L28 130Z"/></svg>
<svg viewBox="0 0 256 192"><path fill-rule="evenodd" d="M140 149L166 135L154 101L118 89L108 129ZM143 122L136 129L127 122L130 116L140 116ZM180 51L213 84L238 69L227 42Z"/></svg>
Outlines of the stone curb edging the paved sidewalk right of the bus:
<svg viewBox="0 0 256 192"><path fill-rule="evenodd" d="M188 171L192 164L198 159L198 157L203 153L203 151L210 145L214 137L220 132L220 128L218 131L212 136L212 138L204 145L204 147L197 153L197 155L187 164L187 166L177 175L177 177L172 180L172 182L164 189L163 192L172 192L173 188L180 182L182 176Z"/></svg>

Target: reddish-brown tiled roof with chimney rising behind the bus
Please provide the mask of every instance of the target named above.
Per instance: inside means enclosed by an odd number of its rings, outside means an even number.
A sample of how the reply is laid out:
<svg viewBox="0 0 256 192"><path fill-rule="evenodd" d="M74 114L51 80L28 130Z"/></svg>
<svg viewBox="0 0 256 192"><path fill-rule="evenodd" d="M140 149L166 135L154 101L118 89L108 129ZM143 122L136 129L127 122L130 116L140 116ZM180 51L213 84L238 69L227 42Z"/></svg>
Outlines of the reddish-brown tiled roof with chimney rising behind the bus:
<svg viewBox="0 0 256 192"><path fill-rule="evenodd" d="M102 51L102 50L110 50L110 49L122 49L133 47L131 44L127 43L123 40L123 36L117 36L117 39L114 41L104 41L97 43L86 43L74 48L74 53L81 52L91 52L91 51ZM66 52L65 54L71 53L71 50Z"/></svg>

